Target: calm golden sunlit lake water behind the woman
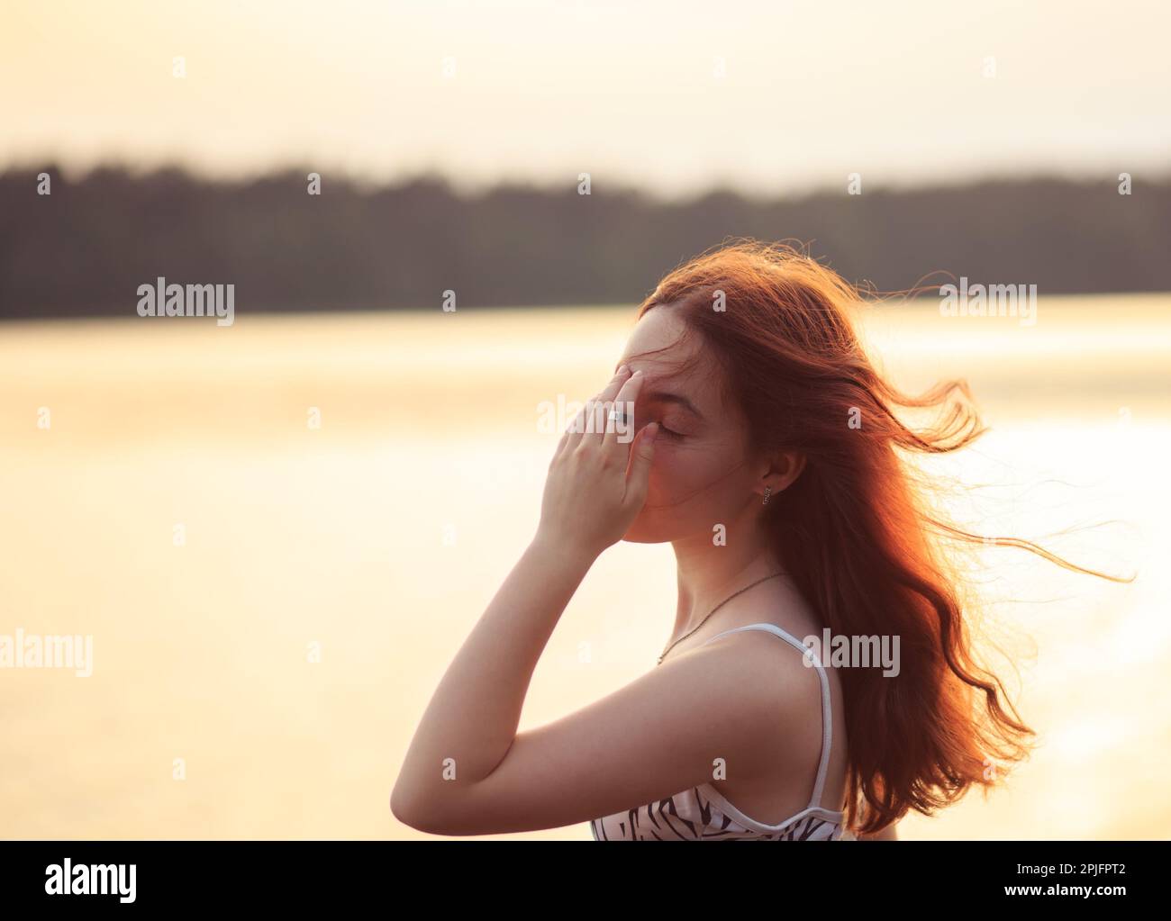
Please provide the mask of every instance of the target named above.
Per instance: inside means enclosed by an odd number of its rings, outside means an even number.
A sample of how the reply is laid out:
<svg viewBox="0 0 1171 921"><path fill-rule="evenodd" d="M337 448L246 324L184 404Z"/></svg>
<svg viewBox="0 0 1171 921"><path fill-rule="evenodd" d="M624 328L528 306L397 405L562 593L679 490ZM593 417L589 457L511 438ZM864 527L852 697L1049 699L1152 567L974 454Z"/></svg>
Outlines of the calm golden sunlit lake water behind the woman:
<svg viewBox="0 0 1171 921"><path fill-rule="evenodd" d="M537 406L593 396L632 314L0 325L0 634L94 638L90 678L0 669L0 833L416 837L391 785L535 527L556 442ZM903 837L1165 838L1171 297L1042 297L1033 327L905 307L863 323L906 389L973 387L992 432L933 466L960 523L1139 571L958 561L1041 744L1006 789ZM608 550L521 728L653 667L673 591L669 545Z"/></svg>

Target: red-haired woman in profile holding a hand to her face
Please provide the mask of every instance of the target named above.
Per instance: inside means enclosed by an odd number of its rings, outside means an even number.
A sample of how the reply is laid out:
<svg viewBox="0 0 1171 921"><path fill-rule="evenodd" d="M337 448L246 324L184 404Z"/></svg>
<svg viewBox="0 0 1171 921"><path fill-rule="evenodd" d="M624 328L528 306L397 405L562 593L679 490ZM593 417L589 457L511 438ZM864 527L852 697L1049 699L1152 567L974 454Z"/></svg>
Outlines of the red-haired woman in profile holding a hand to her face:
<svg viewBox="0 0 1171 921"><path fill-rule="evenodd" d="M974 661L938 547L985 538L929 514L898 454L956 451L984 429L963 382L912 398L876 372L857 300L817 262L754 241L659 283L419 723L391 795L400 822L448 836L588 822L600 840L895 838L909 810L991 786L1027 754L1032 730ZM947 403L926 431L893 412ZM623 539L674 548L659 665L518 733L557 619ZM833 667L804 644L827 628L897 639L897 668Z"/></svg>

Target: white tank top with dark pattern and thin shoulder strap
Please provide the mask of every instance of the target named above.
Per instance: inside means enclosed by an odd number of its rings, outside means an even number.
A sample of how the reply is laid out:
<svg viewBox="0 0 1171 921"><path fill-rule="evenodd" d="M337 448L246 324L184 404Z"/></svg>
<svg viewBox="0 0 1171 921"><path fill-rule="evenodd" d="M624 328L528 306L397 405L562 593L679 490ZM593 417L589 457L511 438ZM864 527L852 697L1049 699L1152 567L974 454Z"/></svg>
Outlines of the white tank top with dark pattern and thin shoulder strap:
<svg viewBox="0 0 1171 921"><path fill-rule="evenodd" d="M813 649L802 645L793 634L787 633L775 624L749 624L744 627L734 627L715 634L707 642L741 630L763 630L780 637L786 642L796 646L817 668L817 676L821 679L821 763L817 765L817 779L814 782L809 805L789 816L785 822L769 825L746 816L725 799L719 790L705 783L690 790L683 790L666 799L594 819L590 822L594 840L836 841L854 839L854 836L844 830L844 812L824 809L821 805L822 788L826 784L826 771L829 769L829 752L834 737L829 679L826 676L824 667Z"/></svg>

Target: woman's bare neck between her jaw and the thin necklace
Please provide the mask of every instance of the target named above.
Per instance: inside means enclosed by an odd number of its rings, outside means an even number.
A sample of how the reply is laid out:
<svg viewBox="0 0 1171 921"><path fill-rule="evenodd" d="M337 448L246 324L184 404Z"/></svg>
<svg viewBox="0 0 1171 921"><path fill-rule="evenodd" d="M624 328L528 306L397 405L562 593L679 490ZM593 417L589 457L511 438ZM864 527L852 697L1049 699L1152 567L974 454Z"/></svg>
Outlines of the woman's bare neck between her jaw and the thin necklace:
<svg viewBox="0 0 1171 921"><path fill-rule="evenodd" d="M730 524L726 537L726 545L713 544L711 534L673 542L679 599L672 641L694 630L728 596L783 569L754 516Z"/></svg>

